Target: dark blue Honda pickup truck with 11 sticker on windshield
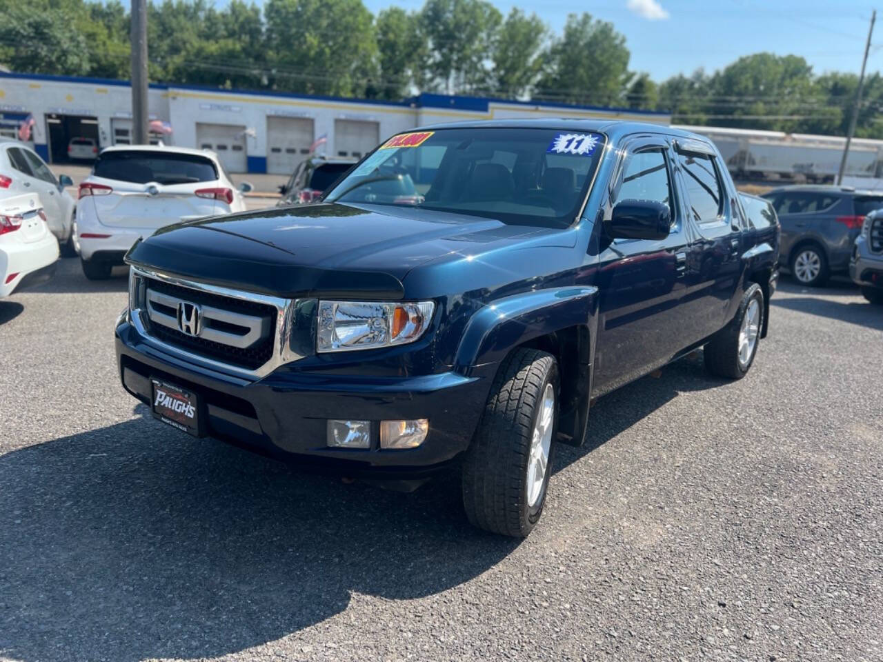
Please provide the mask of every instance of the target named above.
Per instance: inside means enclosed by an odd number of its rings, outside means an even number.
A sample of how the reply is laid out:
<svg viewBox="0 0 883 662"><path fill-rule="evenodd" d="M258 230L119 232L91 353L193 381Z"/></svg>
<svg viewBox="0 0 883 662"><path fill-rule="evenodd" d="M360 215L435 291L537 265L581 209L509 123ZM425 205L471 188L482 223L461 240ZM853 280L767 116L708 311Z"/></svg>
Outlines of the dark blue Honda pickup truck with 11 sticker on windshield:
<svg viewBox="0 0 883 662"><path fill-rule="evenodd" d="M396 135L321 201L132 247L120 378L155 417L348 476L460 471L523 537L592 399L704 347L739 379L779 227L706 139L588 120Z"/></svg>

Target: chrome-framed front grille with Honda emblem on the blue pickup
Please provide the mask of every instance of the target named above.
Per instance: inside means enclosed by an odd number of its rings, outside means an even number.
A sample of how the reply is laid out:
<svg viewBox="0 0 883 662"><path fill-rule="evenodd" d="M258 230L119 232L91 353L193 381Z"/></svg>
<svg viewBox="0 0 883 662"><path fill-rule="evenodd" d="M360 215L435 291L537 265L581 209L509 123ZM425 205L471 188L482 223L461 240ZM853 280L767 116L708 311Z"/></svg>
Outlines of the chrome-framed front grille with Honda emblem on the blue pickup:
<svg viewBox="0 0 883 662"><path fill-rule="evenodd" d="M261 377L291 350L298 301L191 282L132 267L132 324L152 344L225 372Z"/></svg>

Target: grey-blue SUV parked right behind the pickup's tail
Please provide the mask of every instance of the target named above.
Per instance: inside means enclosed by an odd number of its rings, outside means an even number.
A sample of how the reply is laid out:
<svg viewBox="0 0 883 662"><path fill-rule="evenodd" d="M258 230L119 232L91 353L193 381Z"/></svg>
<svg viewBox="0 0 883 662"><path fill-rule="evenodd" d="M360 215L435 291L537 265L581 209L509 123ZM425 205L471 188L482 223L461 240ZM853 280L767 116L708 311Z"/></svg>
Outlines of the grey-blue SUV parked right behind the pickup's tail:
<svg viewBox="0 0 883 662"><path fill-rule="evenodd" d="M762 197L781 222L782 266L812 287L846 273L864 216L883 207L883 193L848 186L785 186Z"/></svg>

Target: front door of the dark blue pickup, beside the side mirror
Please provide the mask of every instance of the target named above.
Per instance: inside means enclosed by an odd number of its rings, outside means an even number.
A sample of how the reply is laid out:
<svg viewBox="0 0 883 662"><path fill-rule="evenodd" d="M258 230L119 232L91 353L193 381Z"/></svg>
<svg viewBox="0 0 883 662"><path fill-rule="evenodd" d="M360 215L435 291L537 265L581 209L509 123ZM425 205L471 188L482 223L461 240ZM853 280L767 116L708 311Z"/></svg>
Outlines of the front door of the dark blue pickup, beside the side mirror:
<svg viewBox="0 0 883 662"><path fill-rule="evenodd" d="M608 246L598 264L596 395L666 363L685 345L678 304L690 241L675 197L670 149L661 137L636 139L625 148L607 213L623 200L653 200L668 205L672 226L665 239L603 240Z"/></svg>

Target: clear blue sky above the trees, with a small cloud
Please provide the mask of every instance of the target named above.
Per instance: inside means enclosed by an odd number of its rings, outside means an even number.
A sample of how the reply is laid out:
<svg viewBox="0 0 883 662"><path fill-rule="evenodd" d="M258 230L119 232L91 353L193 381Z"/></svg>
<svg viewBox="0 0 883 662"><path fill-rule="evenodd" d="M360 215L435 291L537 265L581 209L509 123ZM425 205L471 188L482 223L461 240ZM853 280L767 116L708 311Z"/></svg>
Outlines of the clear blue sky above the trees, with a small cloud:
<svg viewBox="0 0 883 662"><path fill-rule="evenodd" d="M375 13L393 4L404 9L423 5L423 0L363 1ZM739 56L761 50L804 56L816 73L858 73L873 9L872 4L852 0L491 2L503 13L513 6L535 12L555 32L561 31L572 11L588 11L597 19L611 21L626 37L630 68L648 71L657 80L698 67L721 69ZM879 47L872 47L868 71L883 68L883 17L878 18L872 43Z"/></svg>

